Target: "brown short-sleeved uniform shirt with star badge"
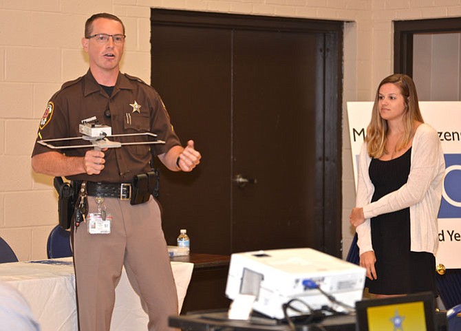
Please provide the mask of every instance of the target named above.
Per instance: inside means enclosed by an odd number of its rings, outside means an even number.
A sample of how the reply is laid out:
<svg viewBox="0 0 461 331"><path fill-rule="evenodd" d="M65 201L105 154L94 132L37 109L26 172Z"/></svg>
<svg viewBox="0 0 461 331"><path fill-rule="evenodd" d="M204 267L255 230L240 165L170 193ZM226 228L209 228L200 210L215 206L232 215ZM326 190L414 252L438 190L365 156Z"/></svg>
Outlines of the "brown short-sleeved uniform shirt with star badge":
<svg viewBox="0 0 461 331"><path fill-rule="evenodd" d="M139 107L140 106L140 107ZM138 111L136 109L138 108ZM110 117L105 116L109 114ZM105 113L106 112L106 113ZM82 120L96 116L99 124L112 128L112 134L135 134L152 132L165 144L128 145L105 151L105 169L99 175L68 176L69 180L91 182L131 182L133 175L150 170L150 149L154 155L166 153L171 147L180 145L173 131L170 118L160 96L153 87L139 78L118 74L114 91L109 97L96 82L91 72L64 83L52 96L40 121L36 140L81 137L78 125ZM120 142L145 141L145 137L111 137ZM81 140L62 142L61 145L80 145ZM58 143L54 144L58 145ZM90 147L92 148L92 147ZM61 151L67 156L84 156L87 148L50 149L35 143L32 156L47 151Z"/></svg>

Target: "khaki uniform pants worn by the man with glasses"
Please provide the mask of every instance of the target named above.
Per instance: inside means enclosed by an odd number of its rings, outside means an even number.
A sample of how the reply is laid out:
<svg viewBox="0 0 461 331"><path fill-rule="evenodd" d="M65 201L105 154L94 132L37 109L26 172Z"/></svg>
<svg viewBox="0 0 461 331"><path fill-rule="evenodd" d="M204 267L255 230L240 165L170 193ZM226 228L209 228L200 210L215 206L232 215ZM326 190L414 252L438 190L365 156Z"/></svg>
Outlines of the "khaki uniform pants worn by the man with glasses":
<svg viewBox="0 0 461 331"><path fill-rule="evenodd" d="M156 200L131 206L107 197L103 204L112 215L109 235L90 235L84 222L74 230L80 330L109 331L122 266L149 315L148 330L173 330L168 317L178 314L178 295ZM94 197L88 206L97 211Z"/></svg>

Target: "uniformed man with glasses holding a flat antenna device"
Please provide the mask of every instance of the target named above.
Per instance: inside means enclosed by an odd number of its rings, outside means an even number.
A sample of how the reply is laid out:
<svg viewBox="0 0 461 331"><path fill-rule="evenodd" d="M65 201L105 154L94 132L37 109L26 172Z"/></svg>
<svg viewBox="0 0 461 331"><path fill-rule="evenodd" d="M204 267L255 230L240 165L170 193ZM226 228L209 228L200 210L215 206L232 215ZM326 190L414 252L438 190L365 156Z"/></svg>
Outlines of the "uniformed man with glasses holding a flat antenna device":
<svg viewBox="0 0 461 331"><path fill-rule="evenodd" d="M149 314L149 330L167 330L169 315L178 314L178 297L160 209L150 192L137 190L136 181L151 186L151 150L171 171L192 171L201 156L192 140L180 145L157 92L120 73L125 27L118 17L90 17L82 45L89 71L52 96L37 140L81 136L79 124L96 117L112 134L152 132L165 143L61 151L35 144L34 171L65 176L80 189L72 224L80 330L109 330L122 266Z"/></svg>

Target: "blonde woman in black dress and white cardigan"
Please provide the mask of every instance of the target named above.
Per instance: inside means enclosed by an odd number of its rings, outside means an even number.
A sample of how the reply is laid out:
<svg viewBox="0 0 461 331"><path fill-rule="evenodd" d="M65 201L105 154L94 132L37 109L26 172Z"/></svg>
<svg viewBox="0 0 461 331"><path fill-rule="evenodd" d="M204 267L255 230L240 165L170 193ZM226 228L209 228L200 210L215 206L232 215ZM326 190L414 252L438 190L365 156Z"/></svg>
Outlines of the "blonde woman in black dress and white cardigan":
<svg viewBox="0 0 461 331"><path fill-rule="evenodd" d="M376 297L436 293L437 215L444 156L414 81L393 74L376 91L358 162L356 228L365 287Z"/></svg>

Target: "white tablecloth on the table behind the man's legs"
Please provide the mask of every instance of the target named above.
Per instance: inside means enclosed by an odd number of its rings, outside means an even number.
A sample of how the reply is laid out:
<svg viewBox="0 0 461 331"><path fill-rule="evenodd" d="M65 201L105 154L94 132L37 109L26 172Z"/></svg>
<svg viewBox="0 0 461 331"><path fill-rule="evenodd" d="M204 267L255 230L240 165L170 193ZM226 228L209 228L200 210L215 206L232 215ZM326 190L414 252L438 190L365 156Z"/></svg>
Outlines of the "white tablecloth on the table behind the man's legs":
<svg viewBox="0 0 461 331"><path fill-rule="evenodd" d="M171 262L171 267L181 309L193 264ZM0 281L17 288L27 299L42 331L77 331L72 258L0 264ZM147 314L124 269L116 288L111 331L146 331L147 322Z"/></svg>

